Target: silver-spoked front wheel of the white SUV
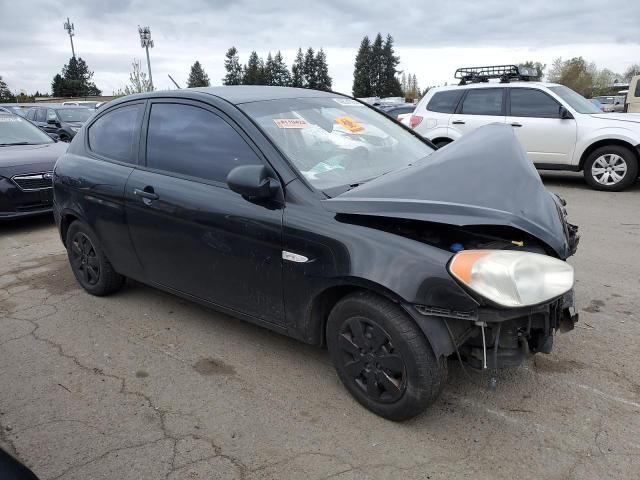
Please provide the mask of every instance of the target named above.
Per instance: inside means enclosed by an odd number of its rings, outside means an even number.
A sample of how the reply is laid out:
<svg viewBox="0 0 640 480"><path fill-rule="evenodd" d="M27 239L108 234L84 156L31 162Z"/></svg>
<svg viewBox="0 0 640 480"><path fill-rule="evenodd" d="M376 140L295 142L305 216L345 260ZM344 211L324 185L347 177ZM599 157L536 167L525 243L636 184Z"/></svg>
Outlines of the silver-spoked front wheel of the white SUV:
<svg viewBox="0 0 640 480"><path fill-rule="evenodd" d="M638 160L631 150L619 145L596 149L584 162L584 178L596 190L617 192L638 176Z"/></svg>

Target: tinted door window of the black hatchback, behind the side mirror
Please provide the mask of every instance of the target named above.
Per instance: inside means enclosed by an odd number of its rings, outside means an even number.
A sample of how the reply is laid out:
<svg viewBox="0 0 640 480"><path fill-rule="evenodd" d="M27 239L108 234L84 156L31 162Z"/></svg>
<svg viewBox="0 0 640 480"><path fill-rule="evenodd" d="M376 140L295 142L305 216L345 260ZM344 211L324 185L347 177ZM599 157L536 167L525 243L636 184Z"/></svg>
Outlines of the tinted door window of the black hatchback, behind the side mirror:
<svg viewBox="0 0 640 480"><path fill-rule="evenodd" d="M224 183L233 168L249 164L262 161L214 113L178 103L156 103L151 107L148 167Z"/></svg>

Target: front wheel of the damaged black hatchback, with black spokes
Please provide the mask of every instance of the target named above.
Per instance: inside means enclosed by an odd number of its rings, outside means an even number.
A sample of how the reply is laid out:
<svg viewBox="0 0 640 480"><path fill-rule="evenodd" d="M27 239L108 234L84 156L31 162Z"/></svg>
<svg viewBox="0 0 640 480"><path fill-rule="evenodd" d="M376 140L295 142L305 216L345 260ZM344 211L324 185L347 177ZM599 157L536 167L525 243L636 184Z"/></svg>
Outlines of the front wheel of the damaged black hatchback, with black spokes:
<svg viewBox="0 0 640 480"><path fill-rule="evenodd" d="M436 359L407 313L368 292L349 295L333 308L327 346L347 390L390 420L421 413L438 398L447 378L446 358Z"/></svg>

